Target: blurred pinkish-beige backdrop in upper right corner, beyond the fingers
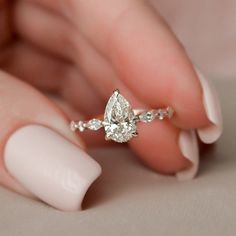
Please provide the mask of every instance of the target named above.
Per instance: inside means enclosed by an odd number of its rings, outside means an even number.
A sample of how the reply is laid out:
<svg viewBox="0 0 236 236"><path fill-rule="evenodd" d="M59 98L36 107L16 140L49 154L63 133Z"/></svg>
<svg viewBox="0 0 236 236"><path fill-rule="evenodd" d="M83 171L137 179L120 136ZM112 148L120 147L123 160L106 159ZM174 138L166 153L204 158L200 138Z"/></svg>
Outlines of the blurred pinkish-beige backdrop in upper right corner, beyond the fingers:
<svg viewBox="0 0 236 236"><path fill-rule="evenodd" d="M236 79L235 0L152 0L192 60L212 78Z"/></svg>

